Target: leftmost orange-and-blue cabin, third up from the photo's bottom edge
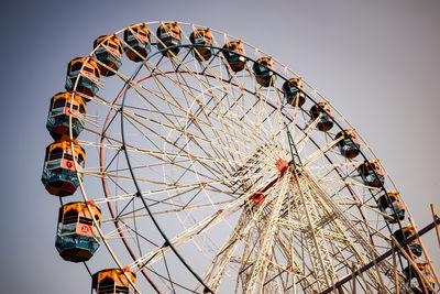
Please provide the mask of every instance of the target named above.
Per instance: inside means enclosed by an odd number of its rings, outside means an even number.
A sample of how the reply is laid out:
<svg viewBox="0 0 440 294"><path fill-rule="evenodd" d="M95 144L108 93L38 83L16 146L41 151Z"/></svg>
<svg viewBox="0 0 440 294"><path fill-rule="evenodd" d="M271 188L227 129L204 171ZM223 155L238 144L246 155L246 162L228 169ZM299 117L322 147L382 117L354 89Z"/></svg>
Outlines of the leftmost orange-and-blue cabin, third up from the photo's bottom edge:
<svg viewBox="0 0 440 294"><path fill-rule="evenodd" d="M76 163L84 165L86 152L74 143ZM69 141L59 141L46 148L42 182L46 190L55 196L68 196L75 193L79 181L75 171L75 163Z"/></svg>

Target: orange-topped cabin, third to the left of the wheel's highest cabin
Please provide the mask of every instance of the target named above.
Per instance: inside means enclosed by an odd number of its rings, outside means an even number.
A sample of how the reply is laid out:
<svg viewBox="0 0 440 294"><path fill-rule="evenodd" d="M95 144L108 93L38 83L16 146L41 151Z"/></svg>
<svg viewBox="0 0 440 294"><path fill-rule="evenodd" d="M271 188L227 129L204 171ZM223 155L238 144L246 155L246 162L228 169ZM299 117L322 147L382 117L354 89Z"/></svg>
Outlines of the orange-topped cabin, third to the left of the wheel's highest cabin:
<svg viewBox="0 0 440 294"><path fill-rule="evenodd" d="M98 91L100 72L92 57L77 57L67 64L67 77L65 88L73 91L78 80L76 91L87 96L95 96ZM85 101L89 98L84 97Z"/></svg>

